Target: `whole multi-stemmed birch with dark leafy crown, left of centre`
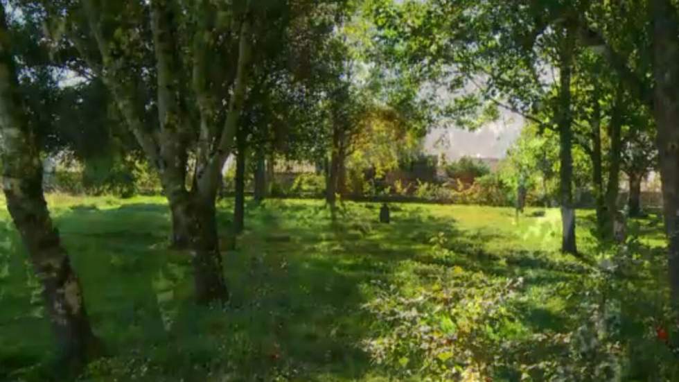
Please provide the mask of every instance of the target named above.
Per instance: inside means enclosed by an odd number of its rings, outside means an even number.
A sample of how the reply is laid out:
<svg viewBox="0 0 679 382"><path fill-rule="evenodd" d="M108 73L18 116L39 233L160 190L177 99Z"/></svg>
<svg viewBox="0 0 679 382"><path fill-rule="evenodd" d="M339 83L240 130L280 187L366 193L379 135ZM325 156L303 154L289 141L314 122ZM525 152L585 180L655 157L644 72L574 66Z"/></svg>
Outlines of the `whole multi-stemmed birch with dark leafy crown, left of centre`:
<svg viewBox="0 0 679 382"><path fill-rule="evenodd" d="M197 301L226 299L215 198L233 152L249 75L288 47L285 38L296 20L335 3L40 3L58 20L46 21L55 26L53 45L76 49L103 80L158 171L173 243L193 257Z"/></svg>

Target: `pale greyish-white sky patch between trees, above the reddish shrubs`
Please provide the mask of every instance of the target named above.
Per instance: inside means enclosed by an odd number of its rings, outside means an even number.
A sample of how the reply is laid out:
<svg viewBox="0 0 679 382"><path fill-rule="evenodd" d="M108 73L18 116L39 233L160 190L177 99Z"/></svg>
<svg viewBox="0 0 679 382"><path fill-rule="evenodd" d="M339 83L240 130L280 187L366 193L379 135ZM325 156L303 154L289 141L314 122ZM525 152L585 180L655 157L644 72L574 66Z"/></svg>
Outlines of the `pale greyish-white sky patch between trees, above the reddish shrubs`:
<svg viewBox="0 0 679 382"><path fill-rule="evenodd" d="M504 111L500 119L470 132L460 128L434 128L425 138L425 152L446 155L446 160L468 157L503 158L518 139L524 125L522 116Z"/></svg>

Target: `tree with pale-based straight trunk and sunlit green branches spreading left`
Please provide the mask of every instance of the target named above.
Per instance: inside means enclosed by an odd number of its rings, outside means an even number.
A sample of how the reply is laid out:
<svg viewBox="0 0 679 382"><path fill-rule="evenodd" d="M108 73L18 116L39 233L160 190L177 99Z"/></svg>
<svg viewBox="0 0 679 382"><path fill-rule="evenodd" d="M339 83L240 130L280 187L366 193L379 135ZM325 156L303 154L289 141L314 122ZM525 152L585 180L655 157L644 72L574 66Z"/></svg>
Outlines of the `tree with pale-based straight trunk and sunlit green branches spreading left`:
<svg viewBox="0 0 679 382"><path fill-rule="evenodd" d="M496 117L493 110L502 107L538 123L542 129L558 132L562 250L576 253L572 78L579 46L574 21L568 17L551 19L549 15L576 14L581 4L465 0L373 3L385 49L421 68L422 78L434 89L440 83L446 85L443 94L449 98L448 105L443 100L445 106L439 110L455 125L475 127ZM558 69L558 77L553 69Z"/></svg>

